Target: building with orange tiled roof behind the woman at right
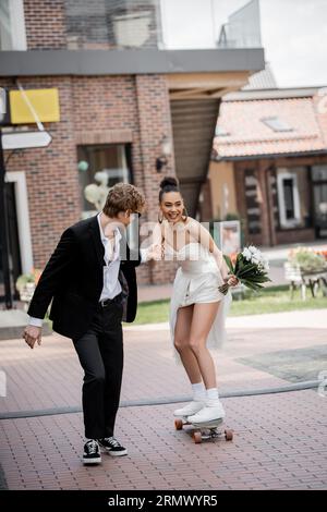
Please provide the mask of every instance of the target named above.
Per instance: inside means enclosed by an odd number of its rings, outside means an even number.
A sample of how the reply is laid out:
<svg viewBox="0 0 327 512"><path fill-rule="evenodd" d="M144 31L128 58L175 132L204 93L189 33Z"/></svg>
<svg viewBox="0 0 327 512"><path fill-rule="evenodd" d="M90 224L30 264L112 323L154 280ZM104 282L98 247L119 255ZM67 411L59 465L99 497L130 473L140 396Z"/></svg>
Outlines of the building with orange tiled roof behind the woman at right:
<svg viewBox="0 0 327 512"><path fill-rule="evenodd" d="M209 170L213 218L238 214L245 240L259 245L327 236L326 100L317 87L225 97Z"/></svg>

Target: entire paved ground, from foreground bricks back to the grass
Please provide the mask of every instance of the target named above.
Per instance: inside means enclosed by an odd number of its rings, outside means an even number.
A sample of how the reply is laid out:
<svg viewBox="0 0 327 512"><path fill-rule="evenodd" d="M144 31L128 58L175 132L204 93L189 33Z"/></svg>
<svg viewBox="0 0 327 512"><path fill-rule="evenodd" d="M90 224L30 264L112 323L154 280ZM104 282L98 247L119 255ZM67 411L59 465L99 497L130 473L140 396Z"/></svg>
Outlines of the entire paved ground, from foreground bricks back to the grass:
<svg viewBox="0 0 327 512"><path fill-rule="evenodd" d="M319 313L322 318L327 316L327 310ZM282 315L271 315L274 321L265 328L251 322L229 327L229 342L215 354L222 392L289 385L289 377L303 370L296 366L303 361L314 378L324 364L327 370L322 356L326 322L313 326L308 319L306 326L299 327L294 317L289 324L281 321ZM125 405L187 398L189 383L183 368L173 361L168 334L165 326L125 329ZM316 390L225 399L226 424L235 431L233 442L194 444L185 431L174 430L172 403L123 406L116 434L128 446L129 455L118 460L104 455L101 466L87 468L81 464L82 414L56 414L60 407L81 406L82 371L70 340L46 337L43 346L34 351L22 340L9 340L1 342L0 351L0 370L8 377L8 397L0 397L0 417L19 411L36 414L0 419L2 487L327 488L327 398ZM284 377L270 364L276 354L284 355ZM320 356L311 358L311 354ZM50 409L51 415L39 415Z"/></svg>

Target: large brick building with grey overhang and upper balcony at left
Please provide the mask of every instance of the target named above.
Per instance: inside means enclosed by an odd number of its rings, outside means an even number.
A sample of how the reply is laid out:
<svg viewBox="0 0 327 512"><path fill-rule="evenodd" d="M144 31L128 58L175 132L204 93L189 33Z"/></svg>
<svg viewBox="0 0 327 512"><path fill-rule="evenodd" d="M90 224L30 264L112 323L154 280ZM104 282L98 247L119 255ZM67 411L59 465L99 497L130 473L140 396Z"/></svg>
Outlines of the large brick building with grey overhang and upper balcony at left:
<svg viewBox="0 0 327 512"><path fill-rule="evenodd" d="M145 193L144 220L157 218L162 174L177 174L196 215L220 98L263 69L261 45L166 49L159 0L4 0L1 9L0 86L56 89L60 108L59 121L40 119L47 148L4 151L13 279L43 268L63 229L94 214L84 188L98 171L108 186ZM3 130L25 129L33 121ZM167 282L172 270L143 266L138 282Z"/></svg>

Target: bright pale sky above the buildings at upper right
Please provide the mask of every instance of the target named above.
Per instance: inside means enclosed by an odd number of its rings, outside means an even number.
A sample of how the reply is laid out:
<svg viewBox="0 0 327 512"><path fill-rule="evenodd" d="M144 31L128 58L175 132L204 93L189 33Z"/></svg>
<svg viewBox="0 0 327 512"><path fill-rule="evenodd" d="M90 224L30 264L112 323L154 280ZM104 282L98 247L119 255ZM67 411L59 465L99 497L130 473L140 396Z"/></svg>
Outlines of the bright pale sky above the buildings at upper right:
<svg viewBox="0 0 327 512"><path fill-rule="evenodd" d="M164 41L213 48L246 0L161 0ZM327 0L259 0L262 46L279 87L327 86Z"/></svg>

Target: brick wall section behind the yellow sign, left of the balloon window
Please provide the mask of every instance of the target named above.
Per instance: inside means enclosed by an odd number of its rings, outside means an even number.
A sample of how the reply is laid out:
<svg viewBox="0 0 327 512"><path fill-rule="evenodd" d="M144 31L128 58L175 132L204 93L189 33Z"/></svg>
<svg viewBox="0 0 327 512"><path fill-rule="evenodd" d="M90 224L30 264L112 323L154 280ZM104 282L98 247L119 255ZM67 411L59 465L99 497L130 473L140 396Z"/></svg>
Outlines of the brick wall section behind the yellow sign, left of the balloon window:
<svg viewBox="0 0 327 512"><path fill-rule="evenodd" d="M43 268L64 228L80 220L71 78L20 78L20 82L24 88L58 87L60 93L61 122L45 124L53 137L51 145L15 151L7 166L8 171L25 172L34 265Z"/></svg>

